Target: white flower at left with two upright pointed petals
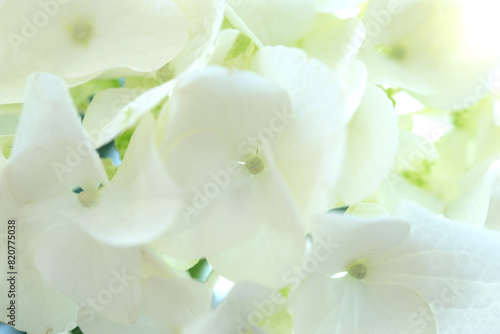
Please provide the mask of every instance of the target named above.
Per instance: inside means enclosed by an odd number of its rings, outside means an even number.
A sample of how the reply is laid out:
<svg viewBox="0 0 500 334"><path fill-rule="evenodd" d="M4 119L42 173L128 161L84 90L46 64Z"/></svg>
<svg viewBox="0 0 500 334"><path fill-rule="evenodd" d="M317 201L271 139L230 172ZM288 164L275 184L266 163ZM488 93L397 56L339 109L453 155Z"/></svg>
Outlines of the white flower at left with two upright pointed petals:
<svg viewBox="0 0 500 334"><path fill-rule="evenodd" d="M64 82L35 74L28 80L4 172L7 199L21 208L36 206L48 217L25 222L41 231L33 247L44 279L80 306L105 298L106 291L119 290L95 310L124 324L137 319L141 270L137 246L163 233L177 210L174 185L158 167L161 160L152 126L152 116L146 115L127 157L108 181ZM78 194L77 188L82 190ZM117 281L122 285L117 287Z"/></svg>

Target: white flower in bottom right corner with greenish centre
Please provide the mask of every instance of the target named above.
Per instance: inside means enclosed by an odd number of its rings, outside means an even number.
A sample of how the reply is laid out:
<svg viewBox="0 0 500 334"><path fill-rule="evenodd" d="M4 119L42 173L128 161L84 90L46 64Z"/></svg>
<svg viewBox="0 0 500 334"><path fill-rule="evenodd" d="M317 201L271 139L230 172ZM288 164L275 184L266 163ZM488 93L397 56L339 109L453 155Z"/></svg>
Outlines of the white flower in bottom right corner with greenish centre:
<svg viewBox="0 0 500 334"><path fill-rule="evenodd" d="M313 243L325 237L340 246L294 293L295 333L491 333L500 325L497 232L404 205L394 216L325 216Z"/></svg>

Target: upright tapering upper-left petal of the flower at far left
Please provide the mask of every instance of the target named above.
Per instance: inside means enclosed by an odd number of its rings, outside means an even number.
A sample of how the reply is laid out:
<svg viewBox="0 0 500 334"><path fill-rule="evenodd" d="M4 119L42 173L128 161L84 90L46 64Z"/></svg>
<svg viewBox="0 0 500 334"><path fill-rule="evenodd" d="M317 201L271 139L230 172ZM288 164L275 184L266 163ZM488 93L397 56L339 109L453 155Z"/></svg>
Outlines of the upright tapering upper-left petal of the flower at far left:
<svg viewBox="0 0 500 334"><path fill-rule="evenodd" d="M62 79L44 73L30 77L7 174L10 190L23 201L107 183Z"/></svg>

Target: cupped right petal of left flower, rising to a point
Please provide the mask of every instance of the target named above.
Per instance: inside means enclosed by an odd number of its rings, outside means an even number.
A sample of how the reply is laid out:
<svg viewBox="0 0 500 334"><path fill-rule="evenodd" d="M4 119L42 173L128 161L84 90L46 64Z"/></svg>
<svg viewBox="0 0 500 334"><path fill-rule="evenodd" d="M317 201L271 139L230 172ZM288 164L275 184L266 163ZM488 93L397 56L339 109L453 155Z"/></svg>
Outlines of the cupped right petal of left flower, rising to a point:
<svg viewBox="0 0 500 334"><path fill-rule="evenodd" d="M92 208L64 210L96 240L119 247L139 246L157 239L172 224L180 194L164 170L153 126L153 116L145 115L116 175L99 189Z"/></svg>

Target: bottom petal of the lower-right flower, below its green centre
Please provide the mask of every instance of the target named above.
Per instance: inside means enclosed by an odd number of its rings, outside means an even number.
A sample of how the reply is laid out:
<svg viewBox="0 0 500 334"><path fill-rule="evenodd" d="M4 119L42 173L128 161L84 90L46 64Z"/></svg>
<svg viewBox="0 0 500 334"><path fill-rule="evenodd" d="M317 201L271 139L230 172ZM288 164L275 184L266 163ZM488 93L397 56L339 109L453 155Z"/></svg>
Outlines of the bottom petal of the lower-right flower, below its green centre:
<svg viewBox="0 0 500 334"><path fill-rule="evenodd" d="M293 297L297 334L426 333L434 334L432 315L417 293L397 285L370 285L350 277L313 275Z"/></svg>

